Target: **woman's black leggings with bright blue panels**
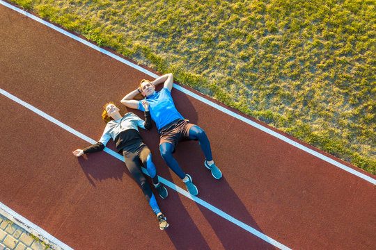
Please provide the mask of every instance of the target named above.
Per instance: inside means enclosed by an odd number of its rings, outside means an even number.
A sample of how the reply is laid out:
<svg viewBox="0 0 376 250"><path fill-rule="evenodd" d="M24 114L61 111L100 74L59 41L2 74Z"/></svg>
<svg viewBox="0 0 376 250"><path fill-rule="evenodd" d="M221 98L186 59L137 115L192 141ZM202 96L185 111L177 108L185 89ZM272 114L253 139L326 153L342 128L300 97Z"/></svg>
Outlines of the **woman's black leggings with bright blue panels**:
<svg viewBox="0 0 376 250"><path fill-rule="evenodd" d="M141 186L141 190L145 195L146 200L149 202L152 210L157 215L161 212L161 210L159 210L157 200L155 199L155 196L152 193L150 185L146 180L146 177L143 174L140 165L140 163L142 163L143 166L146 167L148 173L150 174L150 177L152 177L152 182L154 184L157 184L158 176L155 169L155 165L154 163L152 163L150 149L146 146L143 146L141 147L141 149L139 149L139 151L136 151L135 153L130 151L123 151L123 156L127 169L130 171L136 182L139 183L139 185Z"/></svg>

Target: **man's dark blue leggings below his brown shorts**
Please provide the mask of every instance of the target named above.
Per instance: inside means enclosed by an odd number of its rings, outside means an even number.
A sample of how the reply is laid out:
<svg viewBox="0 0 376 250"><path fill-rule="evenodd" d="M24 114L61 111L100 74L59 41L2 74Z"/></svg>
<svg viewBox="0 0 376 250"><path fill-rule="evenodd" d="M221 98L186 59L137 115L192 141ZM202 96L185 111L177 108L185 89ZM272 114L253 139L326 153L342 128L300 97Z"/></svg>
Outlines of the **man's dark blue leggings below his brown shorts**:
<svg viewBox="0 0 376 250"><path fill-rule="evenodd" d="M209 139L207 139L207 135L202 128L200 128L199 126L192 126L189 129L189 139L198 140L206 160L213 160L212 149L210 148ZM175 160L175 158L173 158L173 152L175 151L175 147L173 146L173 144L169 142L164 142L160 144L159 150L161 151L162 158L170 167L170 169L181 179L185 178L185 172L182 171L181 167L179 166L179 163Z"/></svg>

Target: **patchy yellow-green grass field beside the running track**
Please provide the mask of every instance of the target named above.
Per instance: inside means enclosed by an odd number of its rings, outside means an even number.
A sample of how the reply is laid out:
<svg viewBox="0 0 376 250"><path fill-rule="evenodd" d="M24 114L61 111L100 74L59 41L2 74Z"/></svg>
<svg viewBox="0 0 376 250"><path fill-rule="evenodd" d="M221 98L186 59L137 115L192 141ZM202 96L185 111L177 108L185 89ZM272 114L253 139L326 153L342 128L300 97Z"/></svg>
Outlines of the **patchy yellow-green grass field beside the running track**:
<svg viewBox="0 0 376 250"><path fill-rule="evenodd" d="M376 174L375 0L13 0Z"/></svg>

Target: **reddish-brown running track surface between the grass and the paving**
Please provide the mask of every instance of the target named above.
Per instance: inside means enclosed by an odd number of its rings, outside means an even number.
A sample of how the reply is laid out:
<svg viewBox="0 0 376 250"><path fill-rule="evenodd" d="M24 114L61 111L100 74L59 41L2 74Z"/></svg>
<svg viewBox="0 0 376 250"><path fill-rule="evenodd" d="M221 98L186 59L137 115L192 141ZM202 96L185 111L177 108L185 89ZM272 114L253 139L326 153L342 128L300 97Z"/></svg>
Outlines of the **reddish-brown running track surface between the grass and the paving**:
<svg viewBox="0 0 376 250"><path fill-rule="evenodd" d="M91 138L100 138L104 128L102 103L120 100L136 82L148 78L2 6L0 18L5 24L0 36L6 38L1 40L1 88ZM182 115L205 129L224 172L223 180L212 179L202 166L198 145L180 144L176 157L198 185L198 197L292 249L375 245L370 240L375 239L370 228L376 214L372 184L181 92L173 90L173 97ZM158 201L172 230L157 232L150 210L140 212L148 208L146 201L130 184L123 163L107 153L77 160L71 151L85 147L84 141L5 97L0 100L6 107L3 117L14 114L8 123L1 122L1 131L11 133L1 140L6 149L1 158L7 160L1 168L1 189L6 192L0 200L71 247L100 249L105 237L113 247L273 249L170 190L169 199ZM159 175L183 187L159 156L155 128L141 133ZM365 204L370 210L359 209Z"/></svg>

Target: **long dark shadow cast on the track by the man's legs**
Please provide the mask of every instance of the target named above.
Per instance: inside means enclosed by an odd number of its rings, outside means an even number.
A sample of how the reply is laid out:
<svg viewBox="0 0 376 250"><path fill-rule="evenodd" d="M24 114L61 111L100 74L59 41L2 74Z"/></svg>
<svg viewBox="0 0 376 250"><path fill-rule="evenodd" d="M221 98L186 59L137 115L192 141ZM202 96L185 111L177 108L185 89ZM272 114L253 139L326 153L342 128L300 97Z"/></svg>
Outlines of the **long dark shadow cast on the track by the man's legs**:
<svg viewBox="0 0 376 250"><path fill-rule="evenodd" d="M238 219L240 222L251 226L253 229L263 233L256 221L253 219L249 210L252 210L252 204L244 204L239 199L233 188L226 181L226 172L220 180L212 177L212 174L203 165L205 157L198 145L198 142L189 141L181 142L176 150L175 158L189 159L184 162L180 160L182 169L191 174L194 184L198 188L198 198L203 199L210 205L227 213L228 215ZM194 156L194 159L192 158ZM215 159L214 159L215 160ZM217 166L221 168L221 162L216 162ZM183 185L180 185L183 188ZM244 192L251 192L251 190L244 190ZM272 244L261 240L256 235L249 233L244 228L229 222L220 215L212 212L208 208L197 204L199 210L212 227L212 230L221 241L224 249L244 249L244 246L250 249L276 249Z"/></svg>

